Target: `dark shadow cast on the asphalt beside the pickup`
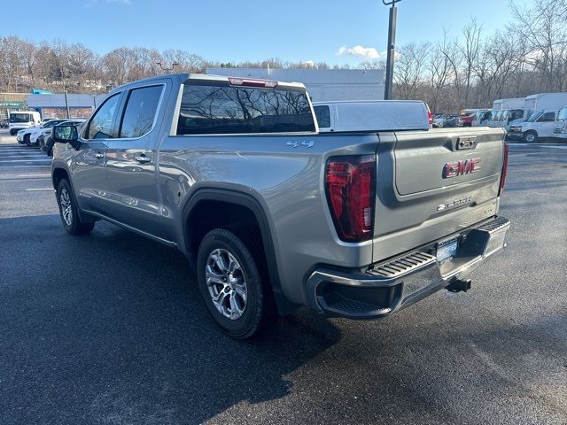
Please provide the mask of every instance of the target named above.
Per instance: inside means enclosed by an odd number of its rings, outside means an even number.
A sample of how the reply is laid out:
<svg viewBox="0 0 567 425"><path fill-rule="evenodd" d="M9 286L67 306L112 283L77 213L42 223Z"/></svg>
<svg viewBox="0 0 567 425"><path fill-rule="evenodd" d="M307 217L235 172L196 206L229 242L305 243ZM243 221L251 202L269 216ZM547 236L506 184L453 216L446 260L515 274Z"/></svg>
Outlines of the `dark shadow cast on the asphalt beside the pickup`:
<svg viewBox="0 0 567 425"><path fill-rule="evenodd" d="M209 318L181 253L105 223L72 237L57 215L5 219L0 235L0 411L10 421L206 421L282 398L285 375L339 338L299 313L234 341Z"/></svg>

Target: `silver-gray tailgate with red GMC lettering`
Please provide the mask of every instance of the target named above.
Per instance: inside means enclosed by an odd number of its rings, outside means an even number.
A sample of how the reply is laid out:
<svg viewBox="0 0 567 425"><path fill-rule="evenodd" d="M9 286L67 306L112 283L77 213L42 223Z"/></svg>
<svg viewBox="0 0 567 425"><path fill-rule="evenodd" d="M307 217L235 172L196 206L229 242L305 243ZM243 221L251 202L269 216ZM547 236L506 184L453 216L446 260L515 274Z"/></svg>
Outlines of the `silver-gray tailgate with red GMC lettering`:
<svg viewBox="0 0 567 425"><path fill-rule="evenodd" d="M503 130L447 128L379 137L374 261L497 213Z"/></svg>

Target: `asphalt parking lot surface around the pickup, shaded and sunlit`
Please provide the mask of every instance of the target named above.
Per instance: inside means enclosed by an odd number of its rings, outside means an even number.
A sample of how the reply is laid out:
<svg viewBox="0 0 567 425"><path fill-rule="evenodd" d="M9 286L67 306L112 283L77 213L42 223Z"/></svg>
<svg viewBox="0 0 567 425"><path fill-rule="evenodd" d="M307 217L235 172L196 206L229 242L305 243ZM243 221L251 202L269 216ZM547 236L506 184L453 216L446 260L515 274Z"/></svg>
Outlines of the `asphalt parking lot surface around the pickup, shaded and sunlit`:
<svg viewBox="0 0 567 425"><path fill-rule="evenodd" d="M252 342L177 251L67 236L50 159L0 134L0 423L567 423L567 146L513 144L509 247L384 321L301 310Z"/></svg>

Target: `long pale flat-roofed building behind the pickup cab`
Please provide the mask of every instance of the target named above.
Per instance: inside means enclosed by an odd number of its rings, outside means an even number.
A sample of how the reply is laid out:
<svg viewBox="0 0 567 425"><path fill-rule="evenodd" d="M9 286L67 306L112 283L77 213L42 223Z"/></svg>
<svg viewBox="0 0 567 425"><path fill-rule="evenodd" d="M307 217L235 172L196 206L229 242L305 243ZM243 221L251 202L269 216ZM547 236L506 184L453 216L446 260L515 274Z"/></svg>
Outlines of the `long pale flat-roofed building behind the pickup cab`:
<svg viewBox="0 0 567 425"><path fill-rule="evenodd" d="M384 99L383 69L207 68L206 73L302 82L314 102Z"/></svg>

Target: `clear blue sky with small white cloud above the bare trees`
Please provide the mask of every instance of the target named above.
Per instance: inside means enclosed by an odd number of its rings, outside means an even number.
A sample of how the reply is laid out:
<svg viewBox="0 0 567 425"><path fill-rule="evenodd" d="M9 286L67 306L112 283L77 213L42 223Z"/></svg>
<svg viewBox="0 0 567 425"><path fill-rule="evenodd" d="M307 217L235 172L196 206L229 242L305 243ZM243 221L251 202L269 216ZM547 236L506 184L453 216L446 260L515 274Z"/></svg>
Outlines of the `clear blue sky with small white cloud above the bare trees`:
<svg viewBox="0 0 567 425"><path fill-rule="evenodd" d="M514 1L532 4L534 0ZM31 3L27 3L29 19L23 19L26 13L22 15L19 2L3 5L4 16L19 19L3 19L0 35L19 35L34 42L61 38L82 42L101 54L125 45L189 50L223 62L276 57L355 66L382 54L388 27L388 8L381 0ZM509 0L401 0L397 45L435 41L443 27L458 36L470 17L482 22L485 35L490 35L509 20Z"/></svg>

